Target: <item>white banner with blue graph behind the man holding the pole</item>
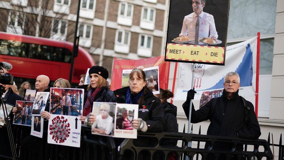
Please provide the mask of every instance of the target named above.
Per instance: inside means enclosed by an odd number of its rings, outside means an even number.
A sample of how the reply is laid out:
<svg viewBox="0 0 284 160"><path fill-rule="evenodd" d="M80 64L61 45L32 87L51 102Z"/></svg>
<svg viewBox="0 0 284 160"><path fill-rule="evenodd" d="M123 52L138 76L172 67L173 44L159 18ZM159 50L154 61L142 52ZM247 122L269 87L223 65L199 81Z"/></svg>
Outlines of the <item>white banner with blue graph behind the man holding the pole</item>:
<svg viewBox="0 0 284 160"><path fill-rule="evenodd" d="M202 107L211 98L221 96L226 73L235 71L240 75L239 94L255 105L257 37L227 47L226 67L196 64L194 84L194 106ZM186 100L191 87L192 64L178 66L178 85L173 100ZM186 73L186 74L185 74ZM257 110L257 106L255 107Z"/></svg>

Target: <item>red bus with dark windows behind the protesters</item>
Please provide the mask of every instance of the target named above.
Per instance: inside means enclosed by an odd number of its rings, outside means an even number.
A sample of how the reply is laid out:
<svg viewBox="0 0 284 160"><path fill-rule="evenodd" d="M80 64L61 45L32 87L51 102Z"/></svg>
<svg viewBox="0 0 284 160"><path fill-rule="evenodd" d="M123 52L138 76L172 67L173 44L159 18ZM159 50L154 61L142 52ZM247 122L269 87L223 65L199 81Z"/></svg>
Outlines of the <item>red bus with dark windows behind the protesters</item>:
<svg viewBox="0 0 284 160"><path fill-rule="evenodd" d="M26 80L33 83L42 74L51 81L69 80L72 48L70 42L0 32L0 61L13 65L9 73L15 77L18 86ZM93 65L95 61L91 55L79 47L72 82L79 83L80 75L86 74L87 68Z"/></svg>

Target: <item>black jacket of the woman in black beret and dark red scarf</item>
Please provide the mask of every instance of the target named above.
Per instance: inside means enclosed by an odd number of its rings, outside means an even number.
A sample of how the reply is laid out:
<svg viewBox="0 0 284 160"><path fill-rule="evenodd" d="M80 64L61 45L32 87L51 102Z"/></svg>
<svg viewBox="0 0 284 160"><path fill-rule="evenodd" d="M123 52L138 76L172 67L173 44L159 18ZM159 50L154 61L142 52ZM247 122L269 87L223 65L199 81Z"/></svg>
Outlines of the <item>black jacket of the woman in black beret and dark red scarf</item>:
<svg viewBox="0 0 284 160"><path fill-rule="evenodd" d="M77 89L84 89L84 106L88 98L87 87L88 85L81 85L77 87ZM94 102L109 102L111 100L111 97L113 96L113 91L110 90L108 87L103 87L100 93L100 96L98 96Z"/></svg>

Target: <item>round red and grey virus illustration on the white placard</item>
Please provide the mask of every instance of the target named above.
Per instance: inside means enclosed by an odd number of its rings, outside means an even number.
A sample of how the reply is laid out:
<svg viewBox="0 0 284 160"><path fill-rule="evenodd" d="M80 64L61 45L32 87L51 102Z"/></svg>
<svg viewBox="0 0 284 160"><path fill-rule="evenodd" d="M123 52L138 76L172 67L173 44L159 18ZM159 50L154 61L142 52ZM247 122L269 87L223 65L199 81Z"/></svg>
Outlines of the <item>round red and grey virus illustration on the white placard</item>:
<svg viewBox="0 0 284 160"><path fill-rule="evenodd" d="M49 125L49 134L52 135L52 139L56 143L63 143L70 134L70 124L68 119L64 119L63 116L56 116L52 119L52 124Z"/></svg>

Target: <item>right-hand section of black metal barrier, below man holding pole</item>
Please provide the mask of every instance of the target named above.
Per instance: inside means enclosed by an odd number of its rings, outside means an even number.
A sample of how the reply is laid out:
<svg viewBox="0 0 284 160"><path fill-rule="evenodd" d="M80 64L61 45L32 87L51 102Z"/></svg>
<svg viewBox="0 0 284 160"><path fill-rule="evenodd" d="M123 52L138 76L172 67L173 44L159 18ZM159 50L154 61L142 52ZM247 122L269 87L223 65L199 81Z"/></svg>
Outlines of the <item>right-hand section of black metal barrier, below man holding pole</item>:
<svg viewBox="0 0 284 160"><path fill-rule="evenodd" d="M168 147L161 145L164 140L181 140L181 147ZM188 147L188 143L204 143L205 147ZM141 144L141 142L144 142ZM253 151L245 151L245 145L252 145ZM264 148L259 152L259 147ZM125 155L131 155L125 157ZM120 145L118 151L119 159L128 159L129 157L138 157L142 159L182 159L182 155L189 156L189 159L196 158L200 154L202 159L273 159L273 154L266 140L248 140L241 138L231 138L222 136L207 136L187 133L139 133L137 139L125 139ZM175 156L173 156L175 155ZM195 155L195 156L194 156ZM255 158L255 159L256 159Z"/></svg>

